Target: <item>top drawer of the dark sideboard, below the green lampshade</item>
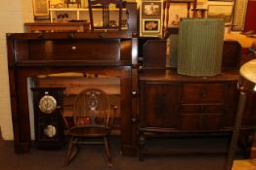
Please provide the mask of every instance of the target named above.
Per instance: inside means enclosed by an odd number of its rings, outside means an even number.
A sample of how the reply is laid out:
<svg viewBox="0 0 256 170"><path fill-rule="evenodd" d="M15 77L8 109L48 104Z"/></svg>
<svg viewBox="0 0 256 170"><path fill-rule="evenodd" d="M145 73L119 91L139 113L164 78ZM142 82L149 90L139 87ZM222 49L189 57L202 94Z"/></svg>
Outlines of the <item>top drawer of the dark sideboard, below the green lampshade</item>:
<svg viewBox="0 0 256 170"><path fill-rule="evenodd" d="M182 103L223 102L225 84L184 84Z"/></svg>

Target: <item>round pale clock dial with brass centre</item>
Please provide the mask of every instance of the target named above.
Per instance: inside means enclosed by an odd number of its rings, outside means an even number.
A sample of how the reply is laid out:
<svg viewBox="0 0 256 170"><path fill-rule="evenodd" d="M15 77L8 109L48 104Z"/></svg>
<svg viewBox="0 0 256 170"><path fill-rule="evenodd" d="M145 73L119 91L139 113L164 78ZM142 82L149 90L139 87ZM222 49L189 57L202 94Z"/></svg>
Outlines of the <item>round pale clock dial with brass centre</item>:
<svg viewBox="0 0 256 170"><path fill-rule="evenodd" d="M51 95L44 95L39 101L39 109L45 114L52 114L57 106L56 99Z"/></svg>

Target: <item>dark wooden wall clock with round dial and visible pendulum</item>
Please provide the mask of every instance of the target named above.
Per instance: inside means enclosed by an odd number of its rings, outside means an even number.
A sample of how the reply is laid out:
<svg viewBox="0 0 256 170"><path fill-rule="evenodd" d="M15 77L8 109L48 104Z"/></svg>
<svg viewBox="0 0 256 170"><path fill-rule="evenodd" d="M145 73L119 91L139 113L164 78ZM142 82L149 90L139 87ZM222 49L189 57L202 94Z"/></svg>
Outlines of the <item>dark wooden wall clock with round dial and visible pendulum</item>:
<svg viewBox="0 0 256 170"><path fill-rule="evenodd" d="M58 149L64 145L64 125L61 108L64 87L32 87L35 146Z"/></svg>

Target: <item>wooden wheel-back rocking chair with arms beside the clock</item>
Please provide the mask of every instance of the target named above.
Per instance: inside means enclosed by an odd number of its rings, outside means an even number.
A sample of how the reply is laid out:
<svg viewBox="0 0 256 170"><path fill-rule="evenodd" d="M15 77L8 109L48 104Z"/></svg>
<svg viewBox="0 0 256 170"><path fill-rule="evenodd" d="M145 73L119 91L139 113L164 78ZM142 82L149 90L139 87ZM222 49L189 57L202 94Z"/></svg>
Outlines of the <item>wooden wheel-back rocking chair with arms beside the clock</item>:
<svg viewBox="0 0 256 170"><path fill-rule="evenodd" d="M109 137L117 107L109 103L107 93L100 88L85 88L75 98L73 104L73 123L66 122L69 142L65 164L69 164L81 145L105 146L108 165L112 166ZM93 140L93 141L92 141Z"/></svg>

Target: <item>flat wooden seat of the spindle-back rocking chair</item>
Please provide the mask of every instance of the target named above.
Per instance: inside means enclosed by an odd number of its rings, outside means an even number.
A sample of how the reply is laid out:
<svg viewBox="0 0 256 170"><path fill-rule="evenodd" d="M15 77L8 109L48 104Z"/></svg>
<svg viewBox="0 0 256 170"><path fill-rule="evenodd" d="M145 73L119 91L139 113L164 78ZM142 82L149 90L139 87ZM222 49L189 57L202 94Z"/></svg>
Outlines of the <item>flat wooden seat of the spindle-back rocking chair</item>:
<svg viewBox="0 0 256 170"><path fill-rule="evenodd" d="M108 135L108 130L105 126L75 126L70 128L67 135L74 137L102 137Z"/></svg>

